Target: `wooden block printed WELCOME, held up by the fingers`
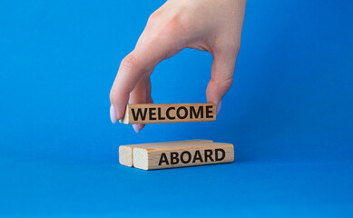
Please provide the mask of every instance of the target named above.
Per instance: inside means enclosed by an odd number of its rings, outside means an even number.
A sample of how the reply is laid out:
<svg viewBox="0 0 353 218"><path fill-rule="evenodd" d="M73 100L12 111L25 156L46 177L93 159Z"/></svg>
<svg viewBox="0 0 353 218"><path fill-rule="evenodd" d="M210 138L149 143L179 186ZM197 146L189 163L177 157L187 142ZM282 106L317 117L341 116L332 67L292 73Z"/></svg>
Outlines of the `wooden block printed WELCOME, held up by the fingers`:
<svg viewBox="0 0 353 218"><path fill-rule="evenodd" d="M216 104L127 104L122 124L215 121Z"/></svg>

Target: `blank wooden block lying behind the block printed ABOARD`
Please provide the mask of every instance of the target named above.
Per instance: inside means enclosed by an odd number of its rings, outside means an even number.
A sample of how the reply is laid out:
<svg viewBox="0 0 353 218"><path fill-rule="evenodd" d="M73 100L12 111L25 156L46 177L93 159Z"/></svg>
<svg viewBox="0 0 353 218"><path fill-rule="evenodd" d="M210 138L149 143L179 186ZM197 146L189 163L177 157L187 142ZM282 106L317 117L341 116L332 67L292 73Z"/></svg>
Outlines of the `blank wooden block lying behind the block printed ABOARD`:
<svg viewBox="0 0 353 218"><path fill-rule="evenodd" d="M172 141L165 143L152 143L152 144L129 144L119 146L119 163L132 166L133 164L133 149L138 148L151 148L154 146L162 145L172 145L172 144L204 144L204 143L213 143L211 140L204 139L193 139L193 140L183 140L183 141Z"/></svg>

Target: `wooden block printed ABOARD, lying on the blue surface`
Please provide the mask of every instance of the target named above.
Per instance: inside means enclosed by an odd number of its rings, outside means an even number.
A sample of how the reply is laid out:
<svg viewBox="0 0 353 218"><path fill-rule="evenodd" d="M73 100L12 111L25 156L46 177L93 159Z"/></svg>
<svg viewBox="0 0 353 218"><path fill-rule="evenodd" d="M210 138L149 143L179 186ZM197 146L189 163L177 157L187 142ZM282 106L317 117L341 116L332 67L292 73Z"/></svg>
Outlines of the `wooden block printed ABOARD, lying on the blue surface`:
<svg viewBox="0 0 353 218"><path fill-rule="evenodd" d="M133 149L133 166L142 170L233 161L233 144L172 144Z"/></svg>

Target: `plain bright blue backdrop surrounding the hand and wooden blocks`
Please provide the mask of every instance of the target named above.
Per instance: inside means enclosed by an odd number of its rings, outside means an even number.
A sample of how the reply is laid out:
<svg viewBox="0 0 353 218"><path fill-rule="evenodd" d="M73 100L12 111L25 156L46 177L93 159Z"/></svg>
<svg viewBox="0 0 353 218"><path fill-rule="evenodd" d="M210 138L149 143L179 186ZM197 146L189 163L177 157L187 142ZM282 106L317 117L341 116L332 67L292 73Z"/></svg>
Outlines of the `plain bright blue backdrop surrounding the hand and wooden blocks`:
<svg viewBox="0 0 353 218"><path fill-rule="evenodd" d="M0 1L0 216L353 214L353 2L249 1L216 122L111 124L120 61L163 1ZM205 102L211 54L152 74L156 103ZM205 138L235 163L145 172L118 146Z"/></svg>

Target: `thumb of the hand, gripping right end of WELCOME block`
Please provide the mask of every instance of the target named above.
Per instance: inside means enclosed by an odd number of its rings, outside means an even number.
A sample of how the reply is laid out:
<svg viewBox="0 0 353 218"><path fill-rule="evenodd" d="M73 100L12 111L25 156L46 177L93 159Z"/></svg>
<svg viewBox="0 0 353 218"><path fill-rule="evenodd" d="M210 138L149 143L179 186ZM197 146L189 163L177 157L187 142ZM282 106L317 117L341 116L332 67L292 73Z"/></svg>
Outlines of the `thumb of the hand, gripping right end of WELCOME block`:
<svg viewBox="0 0 353 218"><path fill-rule="evenodd" d="M228 92L233 81L237 51L226 49L213 54L211 80L207 85L207 102L217 104L217 114L221 110L221 99Z"/></svg>

